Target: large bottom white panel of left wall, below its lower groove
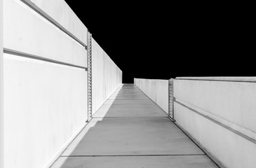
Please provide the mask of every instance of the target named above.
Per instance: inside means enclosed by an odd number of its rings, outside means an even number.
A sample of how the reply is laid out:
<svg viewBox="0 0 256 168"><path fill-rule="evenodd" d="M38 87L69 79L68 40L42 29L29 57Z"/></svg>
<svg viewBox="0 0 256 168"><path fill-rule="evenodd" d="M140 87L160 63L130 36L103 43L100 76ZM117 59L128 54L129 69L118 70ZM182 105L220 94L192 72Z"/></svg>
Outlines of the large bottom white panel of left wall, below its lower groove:
<svg viewBox="0 0 256 168"><path fill-rule="evenodd" d="M5 167L43 167L85 124L86 75L4 54Z"/></svg>

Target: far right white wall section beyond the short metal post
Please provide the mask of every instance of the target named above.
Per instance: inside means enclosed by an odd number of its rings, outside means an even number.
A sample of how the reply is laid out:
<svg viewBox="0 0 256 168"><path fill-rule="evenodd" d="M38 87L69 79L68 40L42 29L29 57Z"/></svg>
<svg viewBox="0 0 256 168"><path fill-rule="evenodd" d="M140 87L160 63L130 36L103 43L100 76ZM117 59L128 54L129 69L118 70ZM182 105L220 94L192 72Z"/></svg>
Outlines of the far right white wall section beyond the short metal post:
<svg viewBox="0 0 256 168"><path fill-rule="evenodd" d="M168 113L168 80L134 78L134 83L163 111Z"/></svg>

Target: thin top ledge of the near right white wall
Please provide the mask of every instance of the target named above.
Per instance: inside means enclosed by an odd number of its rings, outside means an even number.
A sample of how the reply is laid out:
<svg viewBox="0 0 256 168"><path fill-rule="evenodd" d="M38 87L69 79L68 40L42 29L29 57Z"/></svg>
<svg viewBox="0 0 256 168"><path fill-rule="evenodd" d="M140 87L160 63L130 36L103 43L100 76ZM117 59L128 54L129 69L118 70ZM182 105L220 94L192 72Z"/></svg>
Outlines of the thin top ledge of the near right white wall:
<svg viewBox="0 0 256 168"><path fill-rule="evenodd" d="M206 77L177 77L175 80L216 80L231 82L256 82L255 76L206 76Z"/></svg>

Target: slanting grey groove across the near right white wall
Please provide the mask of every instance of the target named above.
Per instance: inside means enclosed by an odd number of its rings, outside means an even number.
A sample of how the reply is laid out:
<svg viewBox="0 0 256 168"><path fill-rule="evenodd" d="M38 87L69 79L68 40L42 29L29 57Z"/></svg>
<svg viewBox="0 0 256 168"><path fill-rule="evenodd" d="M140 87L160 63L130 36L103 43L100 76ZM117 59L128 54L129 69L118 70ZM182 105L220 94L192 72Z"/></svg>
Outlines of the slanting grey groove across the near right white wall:
<svg viewBox="0 0 256 168"><path fill-rule="evenodd" d="M231 127L229 127L229 126L220 123L220 121L217 121L217 120L215 120L215 119L213 119L213 118L210 118L210 117L208 117L208 116L206 116L206 115L204 115L204 114L202 114L202 113L200 113L200 112L198 112L198 111L192 109L191 107L186 106L185 104L182 104L182 103L180 103L180 102L177 102L176 100L175 100L174 102L176 102L177 104L180 104L180 105L186 107L187 109L189 109L189 110L191 110L191 111L194 111L194 113L197 113L198 115L200 115L200 116L202 116L202 117L204 117L204 118L207 118L208 120L212 121L213 123L216 123L217 125L220 125L220 126L226 128L227 130L233 132L234 134L237 134L238 136L243 137L244 139L247 139L248 141L251 141L253 144L256 144L256 140L255 140L255 139L252 139L251 137L248 137L247 135L245 135L245 134L243 134L243 133L241 133L241 132L238 132L237 130L234 130L233 128L231 128Z"/></svg>

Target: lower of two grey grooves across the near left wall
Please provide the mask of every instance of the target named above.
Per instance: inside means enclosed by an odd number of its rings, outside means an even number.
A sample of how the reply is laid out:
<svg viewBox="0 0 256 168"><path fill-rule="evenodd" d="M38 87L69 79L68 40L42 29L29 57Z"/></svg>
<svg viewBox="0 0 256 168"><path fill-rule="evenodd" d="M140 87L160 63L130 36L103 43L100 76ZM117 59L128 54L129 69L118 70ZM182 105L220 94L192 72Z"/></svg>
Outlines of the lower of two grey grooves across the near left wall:
<svg viewBox="0 0 256 168"><path fill-rule="evenodd" d="M45 58L45 57L40 57L40 56L37 56L37 55L32 55L32 54L28 54L28 53L25 53L25 52L20 52L20 51L17 51L17 50L11 50L11 49L8 49L8 48L4 48L4 53L11 54L11 55L17 55L17 56L20 56L20 57L27 57L27 58L31 58L31 59L37 59L37 60L44 61L44 62L51 62L51 63L55 63L55 64L73 66L73 67L76 67L76 68L85 69L87 71L87 68L84 67L84 66L69 64L69 63L66 63L66 62L60 62L60 61L57 61L57 60L48 59L48 58Z"/></svg>

